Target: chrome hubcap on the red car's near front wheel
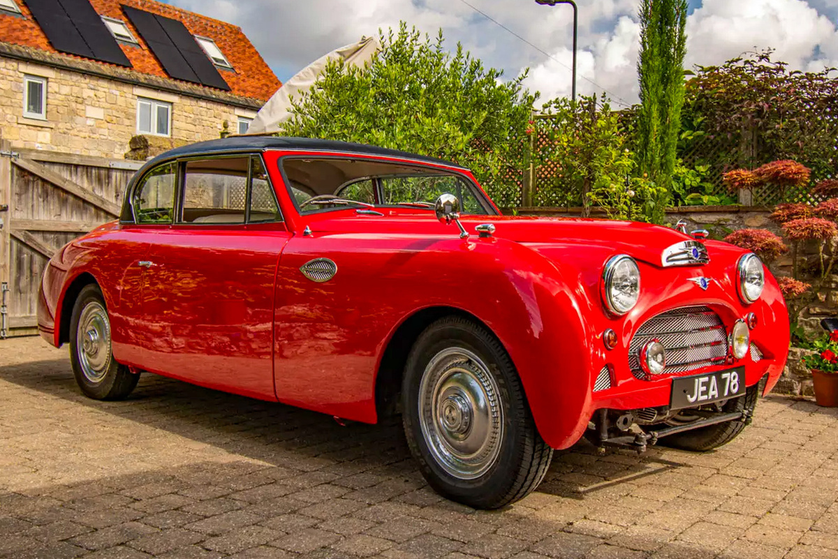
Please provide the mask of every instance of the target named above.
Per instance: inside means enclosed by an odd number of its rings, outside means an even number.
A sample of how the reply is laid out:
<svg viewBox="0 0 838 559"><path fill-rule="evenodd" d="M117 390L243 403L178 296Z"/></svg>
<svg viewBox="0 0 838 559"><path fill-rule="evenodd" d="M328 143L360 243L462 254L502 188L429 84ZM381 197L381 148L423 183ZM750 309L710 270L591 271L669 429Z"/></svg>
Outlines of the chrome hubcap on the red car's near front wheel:
<svg viewBox="0 0 838 559"><path fill-rule="evenodd" d="M428 362L419 415L428 449L448 474L473 480L498 459L504 434L499 390L473 352L452 347Z"/></svg>

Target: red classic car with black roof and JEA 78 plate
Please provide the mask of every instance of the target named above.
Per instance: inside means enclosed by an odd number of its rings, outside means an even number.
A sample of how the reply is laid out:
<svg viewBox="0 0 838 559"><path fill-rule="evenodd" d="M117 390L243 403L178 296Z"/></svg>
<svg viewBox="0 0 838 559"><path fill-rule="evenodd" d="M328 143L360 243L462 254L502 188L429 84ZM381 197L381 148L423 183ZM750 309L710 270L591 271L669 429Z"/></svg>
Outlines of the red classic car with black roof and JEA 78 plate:
<svg viewBox="0 0 838 559"><path fill-rule="evenodd" d="M44 273L39 331L86 395L147 371L375 423L494 508L586 436L713 449L783 370L754 255L643 223L502 216L450 162L239 137L168 151Z"/></svg>

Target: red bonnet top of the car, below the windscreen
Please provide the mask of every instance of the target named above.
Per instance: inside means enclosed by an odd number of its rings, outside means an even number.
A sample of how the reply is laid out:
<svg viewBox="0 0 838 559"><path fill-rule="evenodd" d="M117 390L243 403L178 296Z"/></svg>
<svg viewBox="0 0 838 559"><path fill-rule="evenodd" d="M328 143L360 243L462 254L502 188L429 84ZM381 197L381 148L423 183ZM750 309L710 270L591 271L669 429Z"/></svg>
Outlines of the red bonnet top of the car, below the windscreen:
<svg viewBox="0 0 838 559"><path fill-rule="evenodd" d="M332 214L334 216L334 214ZM311 223L314 233L364 234L430 234L456 235L454 224L439 223L433 214L421 213L400 216L354 216L317 219ZM318 216L318 217L321 217ZM462 219L468 233L477 235L474 228L480 223L494 223L495 238L527 244L540 250L585 246L595 250L630 254L636 259L660 266L661 254L673 244L691 237L674 229L626 221L582 218L527 218L515 216L466 216Z"/></svg>

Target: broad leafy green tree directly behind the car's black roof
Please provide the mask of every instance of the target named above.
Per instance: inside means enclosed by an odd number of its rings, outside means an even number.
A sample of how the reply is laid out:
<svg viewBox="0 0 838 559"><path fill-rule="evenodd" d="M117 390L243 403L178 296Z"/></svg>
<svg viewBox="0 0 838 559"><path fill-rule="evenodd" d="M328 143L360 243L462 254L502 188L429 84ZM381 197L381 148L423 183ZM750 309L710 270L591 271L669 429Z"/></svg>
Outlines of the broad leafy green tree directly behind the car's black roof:
<svg viewBox="0 0 838 559"><path fill-rule="evenodd" d="M380 32L367 68L329 64L316 87L293 100L287 136L357 141L458 162L473 170L502 207L520 205L520 168L535 96L526 74L501 82L457 45L401 23Z"/></svg>

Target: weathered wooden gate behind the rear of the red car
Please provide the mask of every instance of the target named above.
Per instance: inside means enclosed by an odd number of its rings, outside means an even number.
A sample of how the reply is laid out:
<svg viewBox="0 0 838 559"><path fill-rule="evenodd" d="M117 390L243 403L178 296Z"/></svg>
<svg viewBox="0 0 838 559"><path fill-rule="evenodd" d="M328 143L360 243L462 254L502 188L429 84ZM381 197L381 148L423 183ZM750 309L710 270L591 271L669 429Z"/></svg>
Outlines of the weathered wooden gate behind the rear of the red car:
<svg viewBox="0 0 838 559"><path fill-rule="evenodd" d="M37 333L44 266L73 238L115 219L141 162L12 150L0 141L0 338Z"/></svg>

